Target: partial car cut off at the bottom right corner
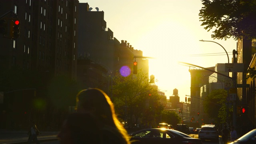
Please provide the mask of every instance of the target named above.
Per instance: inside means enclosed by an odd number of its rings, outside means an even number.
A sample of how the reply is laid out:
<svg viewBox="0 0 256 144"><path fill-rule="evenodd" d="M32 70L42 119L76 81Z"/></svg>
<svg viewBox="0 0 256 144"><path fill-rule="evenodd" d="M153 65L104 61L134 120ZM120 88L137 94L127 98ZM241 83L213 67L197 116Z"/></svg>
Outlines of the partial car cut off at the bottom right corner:
<svg viewBox="0 0 256 144"><path fill-rule="evenodd" d="M229 144L256 144L256 129L251 130Z"/></svg>

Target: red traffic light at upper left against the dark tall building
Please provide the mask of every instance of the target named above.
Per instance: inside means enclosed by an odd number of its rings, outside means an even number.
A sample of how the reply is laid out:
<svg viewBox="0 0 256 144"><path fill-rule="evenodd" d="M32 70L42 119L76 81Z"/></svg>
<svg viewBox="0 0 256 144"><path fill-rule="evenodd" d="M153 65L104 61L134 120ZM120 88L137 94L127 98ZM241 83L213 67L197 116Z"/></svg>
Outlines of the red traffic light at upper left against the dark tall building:
<svg viewBox="0 0 256 144"><path fill-rule="evenodd" d="M20 20L18 18L12 18L10 20L10 38L20 37Z"/></svg>

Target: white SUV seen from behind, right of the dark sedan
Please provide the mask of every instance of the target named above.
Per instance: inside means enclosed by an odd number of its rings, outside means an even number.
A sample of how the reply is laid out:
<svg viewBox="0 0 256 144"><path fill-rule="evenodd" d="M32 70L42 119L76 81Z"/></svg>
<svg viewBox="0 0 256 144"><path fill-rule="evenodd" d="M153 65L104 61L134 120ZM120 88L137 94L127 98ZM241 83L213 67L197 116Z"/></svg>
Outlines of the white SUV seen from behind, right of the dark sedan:
<svg viewBox="0 0 256 144"><path fill-rule="evenodd" d="M198 138L203 141L211 140L219 142L219 134L214 126L202 126L201 130L198 132Z"/></svg>

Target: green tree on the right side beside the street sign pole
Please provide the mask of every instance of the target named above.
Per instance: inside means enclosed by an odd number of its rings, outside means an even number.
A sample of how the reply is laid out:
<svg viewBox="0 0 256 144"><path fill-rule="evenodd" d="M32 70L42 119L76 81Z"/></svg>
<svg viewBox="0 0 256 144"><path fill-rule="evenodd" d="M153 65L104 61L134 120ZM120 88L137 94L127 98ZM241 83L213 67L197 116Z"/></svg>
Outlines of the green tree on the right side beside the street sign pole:
<svg viewBox="0 0 256 144"><path fill-rule="evenodd" d="M216 123L226 122L226 97L226 90L212 90L203 102L204 112ZM228 109L228 112L232 112L232 108Z"/></svg>

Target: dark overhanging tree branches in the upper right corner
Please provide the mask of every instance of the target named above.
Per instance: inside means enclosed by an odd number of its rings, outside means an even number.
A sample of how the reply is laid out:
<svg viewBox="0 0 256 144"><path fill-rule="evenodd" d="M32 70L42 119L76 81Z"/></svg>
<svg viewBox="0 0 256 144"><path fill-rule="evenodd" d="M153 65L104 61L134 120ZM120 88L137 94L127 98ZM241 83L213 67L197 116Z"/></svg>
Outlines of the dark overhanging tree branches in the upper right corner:
<svg viewBox="0 0 256 144"><path fill-rule="evenodd" d="M201 26L214 39L256 38L256 0L201 0Z"/></svg>

